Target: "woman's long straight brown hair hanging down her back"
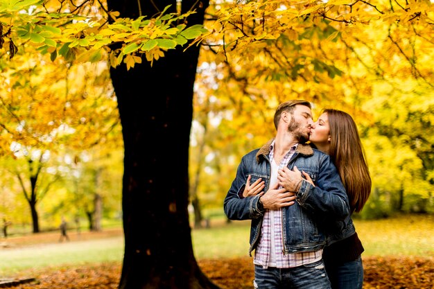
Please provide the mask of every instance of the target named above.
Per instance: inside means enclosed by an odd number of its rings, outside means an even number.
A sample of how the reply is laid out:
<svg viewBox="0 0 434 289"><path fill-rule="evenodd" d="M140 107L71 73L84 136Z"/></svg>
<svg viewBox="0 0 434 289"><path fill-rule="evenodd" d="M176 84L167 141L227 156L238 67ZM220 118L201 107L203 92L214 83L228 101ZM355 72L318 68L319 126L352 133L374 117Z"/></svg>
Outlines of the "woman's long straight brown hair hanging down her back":
<svg viewBox="0 0 434 289"><path fill-rule="evenodd" d="M324 109L330 127L330 157L345 186L351 211L360 212L371 193L371 177L357 125L346 112Z"/></svg>

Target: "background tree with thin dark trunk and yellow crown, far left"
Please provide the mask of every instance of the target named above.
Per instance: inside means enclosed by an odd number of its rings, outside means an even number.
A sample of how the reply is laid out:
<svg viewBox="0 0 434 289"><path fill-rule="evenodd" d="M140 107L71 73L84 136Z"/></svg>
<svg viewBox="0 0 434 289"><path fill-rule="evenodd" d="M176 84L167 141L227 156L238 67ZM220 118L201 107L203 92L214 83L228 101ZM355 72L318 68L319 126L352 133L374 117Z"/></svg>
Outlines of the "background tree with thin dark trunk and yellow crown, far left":
<svg viewBox="0 0 434 289"><path fill-rule="evenodd" d="M55 163L49 162L50 157L57 157L65 145L84 150L107 141L119 123L116 102L107 70L97 65L71 67L29 53L17 56L1 76L1 125L8 132L2 150L16 160L10 170L28 202L37 233L37 205L62 175L58 169L46 172Z"/></svg>

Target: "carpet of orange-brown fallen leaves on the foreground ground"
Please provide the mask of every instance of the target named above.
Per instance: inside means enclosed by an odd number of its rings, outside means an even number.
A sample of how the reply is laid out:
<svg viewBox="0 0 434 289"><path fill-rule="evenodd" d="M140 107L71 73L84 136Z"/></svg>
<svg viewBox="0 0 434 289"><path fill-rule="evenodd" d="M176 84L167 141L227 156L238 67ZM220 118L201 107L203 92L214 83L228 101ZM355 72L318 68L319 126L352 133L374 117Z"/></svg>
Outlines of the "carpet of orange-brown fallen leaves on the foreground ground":
<svg viewBox="0 0 434 289"><path fill-rule="evenodd" d="M209 259L198 261L202 271L222 289L253 288L250 258ZM434 289L434 259L411 257L367 257L363 259L366 289ZM121 264L82 265L24 272L36 281L12 289L109 289L117 288ZM29 276L34 274L34 276Z"/></svg>

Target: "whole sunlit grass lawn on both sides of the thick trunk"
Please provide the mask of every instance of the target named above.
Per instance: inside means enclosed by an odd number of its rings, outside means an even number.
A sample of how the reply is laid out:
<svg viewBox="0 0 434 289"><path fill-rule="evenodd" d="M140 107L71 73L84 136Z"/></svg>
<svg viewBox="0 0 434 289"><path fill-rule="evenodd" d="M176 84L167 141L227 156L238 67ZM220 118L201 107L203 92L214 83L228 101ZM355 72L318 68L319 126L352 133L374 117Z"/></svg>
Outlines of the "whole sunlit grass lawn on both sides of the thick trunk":
<svg viewBox="0 0 434 289"><path fill-rule="evenodd" d="M356 230L368 256L434 256L434 216L400 216L387 220L355 220ZM248 221L211 220L210 229L193 229L196 259L248 256ZM121 229L101 233L71 232L70 242L59 243L59 233L44 233L0 240L0 277L26 268L121 262Z"/></svg>

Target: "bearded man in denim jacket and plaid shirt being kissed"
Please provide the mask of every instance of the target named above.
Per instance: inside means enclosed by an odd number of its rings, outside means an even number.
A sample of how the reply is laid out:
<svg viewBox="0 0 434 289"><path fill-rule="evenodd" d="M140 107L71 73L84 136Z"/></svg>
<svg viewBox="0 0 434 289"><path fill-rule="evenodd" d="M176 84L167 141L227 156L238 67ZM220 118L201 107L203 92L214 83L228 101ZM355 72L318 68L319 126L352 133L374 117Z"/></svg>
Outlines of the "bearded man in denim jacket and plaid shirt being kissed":
<svg viewBox="0 0 434 289"><path fill-rule="evenodd" d="M249 254L254 250L255 288L330 288L322 262L325 235L318 224L344 222L347 194L329 156L304 144L313 124L310 103L281 103L274 121L275 139L241 160L225 213L231 220L252 220ZM316 186L302 179L299 170ZM279 175L292 178L285 184L289 191L279 189ZM262 181L266 193L243 196L250 181Z"/></svg>

